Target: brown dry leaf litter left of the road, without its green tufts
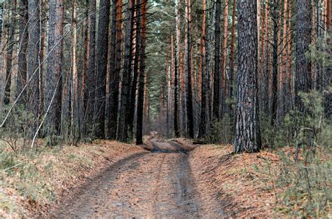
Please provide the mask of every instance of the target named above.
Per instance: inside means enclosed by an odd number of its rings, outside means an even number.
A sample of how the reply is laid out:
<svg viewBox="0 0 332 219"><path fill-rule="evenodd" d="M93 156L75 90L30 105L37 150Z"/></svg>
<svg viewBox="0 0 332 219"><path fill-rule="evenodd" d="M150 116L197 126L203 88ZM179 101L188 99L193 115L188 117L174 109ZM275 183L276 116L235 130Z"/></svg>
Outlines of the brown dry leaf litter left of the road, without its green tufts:
<svg viewBox="0 0 332 219"><path fill-rule="evenodd" d="M142 153L141 147L118 143L116 141L95 141L93 144L81 144L78 147L64 146L61 150L46 150L39 156L27 158L24 155L17 157L24 167L15 168L17 174L2 176L0 183L0 197L13 204L15 212L8 212L6 206L0 205L0 218L33 217L41 212L47 212L55 202L39 198L32 202L19 194L18 188L27 183L25 177L20 176L20 169L36 167L38 178L29 183L45 184L55 195L55 201L70 196L76 188L95 178L103 169L111 164L125 159L136 153ZM6 202L7 203L7 202ZM39 215L40 216L40 215Z"/></svg>

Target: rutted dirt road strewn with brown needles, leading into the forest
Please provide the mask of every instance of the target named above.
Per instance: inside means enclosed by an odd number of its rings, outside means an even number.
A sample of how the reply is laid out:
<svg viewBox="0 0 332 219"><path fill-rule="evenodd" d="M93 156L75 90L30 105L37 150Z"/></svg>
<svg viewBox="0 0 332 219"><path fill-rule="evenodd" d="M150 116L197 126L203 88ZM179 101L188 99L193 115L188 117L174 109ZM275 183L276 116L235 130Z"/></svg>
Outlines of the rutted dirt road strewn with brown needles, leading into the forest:
<svg viewBox="0 0 332 219"><path fill-rule="evenodd" d="M134 155L109 167L63 204L56 217L222 218L218 203L202 202L187 151L174 142L151 143L154 153Z"/></svg>

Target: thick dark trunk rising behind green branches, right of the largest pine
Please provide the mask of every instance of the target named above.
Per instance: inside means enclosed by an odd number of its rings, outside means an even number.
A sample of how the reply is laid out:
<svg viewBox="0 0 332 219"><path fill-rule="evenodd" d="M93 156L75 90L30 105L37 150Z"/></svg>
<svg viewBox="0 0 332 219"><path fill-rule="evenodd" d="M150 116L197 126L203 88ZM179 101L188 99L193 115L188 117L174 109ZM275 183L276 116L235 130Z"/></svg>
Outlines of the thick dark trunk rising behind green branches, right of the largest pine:
<svg viewBox="0 0 332 219"><path fill-rule="evenodd" d="M295 104L298 110L305 112L299 92L308 92L312 86L311 60L306 52L311 43L312 6L310 0L298 1L298 13L296 22L296 81L295 81Z"/></svg>

